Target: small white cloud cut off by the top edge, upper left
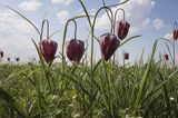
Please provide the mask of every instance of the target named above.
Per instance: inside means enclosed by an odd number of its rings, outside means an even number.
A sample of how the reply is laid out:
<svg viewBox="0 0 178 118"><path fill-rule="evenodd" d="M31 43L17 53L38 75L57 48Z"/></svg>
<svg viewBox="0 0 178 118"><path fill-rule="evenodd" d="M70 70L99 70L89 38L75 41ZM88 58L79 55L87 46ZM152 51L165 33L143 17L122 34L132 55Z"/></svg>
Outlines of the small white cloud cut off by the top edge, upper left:
<svg viewBox="0 0 178 118"><path fill-rule="evenodd" d="M41 6L42 3L39 0L26 0L19 4L26 11L37 11Z"/></svg>

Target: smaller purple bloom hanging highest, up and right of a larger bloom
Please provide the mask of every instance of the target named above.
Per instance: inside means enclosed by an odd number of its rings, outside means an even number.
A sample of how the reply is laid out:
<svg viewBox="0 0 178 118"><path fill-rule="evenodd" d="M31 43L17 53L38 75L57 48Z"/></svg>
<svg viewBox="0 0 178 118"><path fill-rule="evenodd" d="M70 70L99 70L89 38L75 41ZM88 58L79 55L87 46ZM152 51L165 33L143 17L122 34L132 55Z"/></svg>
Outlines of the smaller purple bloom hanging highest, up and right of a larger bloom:
<svg viewBox="0 0 178 118"><path fill-rule="evenodd" d="M125 39L128 35L129 28L130 28L130 23L128 23L127 21L125 20L117 21L117 26L116 26L117 37L120 40Z"/></svg>

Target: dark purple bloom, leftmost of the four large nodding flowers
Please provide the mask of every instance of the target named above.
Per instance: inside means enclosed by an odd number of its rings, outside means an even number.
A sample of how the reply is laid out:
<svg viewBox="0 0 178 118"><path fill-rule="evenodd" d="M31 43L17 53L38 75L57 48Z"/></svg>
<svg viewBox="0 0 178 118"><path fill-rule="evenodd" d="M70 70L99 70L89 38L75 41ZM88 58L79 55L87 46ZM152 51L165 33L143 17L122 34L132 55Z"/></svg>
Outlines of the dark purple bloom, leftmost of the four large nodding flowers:
<svg viewBox="0 0 178 118"><path fill-rule="evenodd" d="M50 39L41 40L39 42L39 49L47 63L55 59L57 48L58 43Z"/></svg>

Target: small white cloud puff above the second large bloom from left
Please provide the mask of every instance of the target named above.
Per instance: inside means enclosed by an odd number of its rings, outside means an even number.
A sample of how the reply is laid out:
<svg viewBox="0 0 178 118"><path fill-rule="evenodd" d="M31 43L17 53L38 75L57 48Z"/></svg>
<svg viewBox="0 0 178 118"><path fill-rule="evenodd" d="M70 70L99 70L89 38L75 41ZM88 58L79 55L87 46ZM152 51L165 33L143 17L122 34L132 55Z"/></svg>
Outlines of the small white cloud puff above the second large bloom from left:
<svg viewBox="0 0 178 118"><path fill-rule="evenodd" d="M69 19L70 14L68 11L60 11L57 13L57 17L60 20L60 23L65 23Z"/></svg>

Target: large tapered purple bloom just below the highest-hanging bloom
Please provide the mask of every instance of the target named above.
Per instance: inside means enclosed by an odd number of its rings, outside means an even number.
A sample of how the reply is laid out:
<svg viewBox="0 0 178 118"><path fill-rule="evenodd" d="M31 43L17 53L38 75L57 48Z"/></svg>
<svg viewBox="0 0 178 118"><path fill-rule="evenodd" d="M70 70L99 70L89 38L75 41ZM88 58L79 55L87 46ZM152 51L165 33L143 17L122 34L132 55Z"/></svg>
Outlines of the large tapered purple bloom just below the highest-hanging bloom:
<svg viewBox="0 0 178 118"><path fill-rule="evenodd" d="M100 36L100 50L105 60L108 60L119 47L120 41L112 33L105 33Z"/></svg>

